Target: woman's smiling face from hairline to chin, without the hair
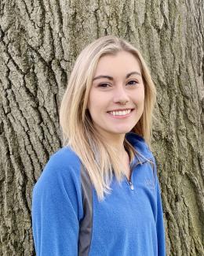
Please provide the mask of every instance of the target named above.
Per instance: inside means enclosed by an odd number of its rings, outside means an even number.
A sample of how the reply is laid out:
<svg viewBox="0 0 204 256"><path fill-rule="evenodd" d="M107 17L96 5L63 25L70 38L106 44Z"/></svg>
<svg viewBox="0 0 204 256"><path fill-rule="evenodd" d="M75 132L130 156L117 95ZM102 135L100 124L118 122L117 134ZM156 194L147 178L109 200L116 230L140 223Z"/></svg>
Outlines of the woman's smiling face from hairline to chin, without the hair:
<svg viewBox="0 0 204 256"><path fill-rule="evenodd" d="M105 137L124 135L144 111L144 83L137 58L126 51L100 58L89 92L93 125Z"/></svg>

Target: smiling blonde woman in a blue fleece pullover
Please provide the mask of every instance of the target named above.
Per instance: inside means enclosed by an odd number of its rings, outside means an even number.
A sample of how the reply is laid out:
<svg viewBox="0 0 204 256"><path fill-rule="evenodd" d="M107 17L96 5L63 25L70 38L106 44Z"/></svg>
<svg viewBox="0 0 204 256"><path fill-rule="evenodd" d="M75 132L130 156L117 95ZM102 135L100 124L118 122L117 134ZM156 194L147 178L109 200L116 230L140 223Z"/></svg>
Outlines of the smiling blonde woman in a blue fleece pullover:
<svg viewBox="0 0 204 256"><path fill-rule="evenodd" d="M104 36L82 50L60 109L64 147L33 191L38 256L165 255L154 103L144 59L125 40Z"/></svg>

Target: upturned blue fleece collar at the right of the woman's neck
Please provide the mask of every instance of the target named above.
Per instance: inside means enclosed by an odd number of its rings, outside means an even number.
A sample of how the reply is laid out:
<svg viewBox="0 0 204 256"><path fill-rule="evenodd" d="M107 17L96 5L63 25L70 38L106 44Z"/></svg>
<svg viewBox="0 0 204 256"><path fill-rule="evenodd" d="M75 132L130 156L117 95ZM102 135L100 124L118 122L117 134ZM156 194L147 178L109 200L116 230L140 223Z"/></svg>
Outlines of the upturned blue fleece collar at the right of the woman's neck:
<svg viewBox="0 0 204 256"><path fill-rule="evenodd" d="M145 142L142 136L137 135L136 133L133 132L129 132L126 134L126 139L135 148L135 150L139 152L139 154L144 156L144 158L154 158L150 148L148 147L148 144Z"/></svg>

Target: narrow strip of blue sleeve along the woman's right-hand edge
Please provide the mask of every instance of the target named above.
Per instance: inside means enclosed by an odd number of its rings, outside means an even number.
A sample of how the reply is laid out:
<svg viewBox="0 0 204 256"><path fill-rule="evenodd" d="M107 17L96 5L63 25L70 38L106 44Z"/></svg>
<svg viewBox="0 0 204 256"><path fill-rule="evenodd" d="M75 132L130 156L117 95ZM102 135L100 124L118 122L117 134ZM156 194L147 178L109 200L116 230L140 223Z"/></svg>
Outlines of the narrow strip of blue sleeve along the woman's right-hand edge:
<svg viewBox="0 0 204 256"><path fill-rule="evenodd" d="M157 240L158 240L158 256L166 255L165 246L165 230L163 221L163 210L162 210L162 198L161 191L158 183L158 177L156 176L156 193L157 193L157 217L156 217L156 229L157 229Z"/></svg>

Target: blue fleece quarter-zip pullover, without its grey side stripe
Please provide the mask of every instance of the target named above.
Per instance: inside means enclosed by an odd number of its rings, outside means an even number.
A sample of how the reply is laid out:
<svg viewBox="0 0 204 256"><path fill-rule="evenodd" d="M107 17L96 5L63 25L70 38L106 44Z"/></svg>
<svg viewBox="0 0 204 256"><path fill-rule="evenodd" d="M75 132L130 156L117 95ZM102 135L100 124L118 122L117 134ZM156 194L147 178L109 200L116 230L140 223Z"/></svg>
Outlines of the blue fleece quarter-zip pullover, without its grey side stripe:
<svg viewBox="0 0 204 256"><path fill-rule="evenodd" d="M126 135L140 154L131 183L113 178L111 194L100 202L93 192L89 256L165 256L162 201L155 158L140 136ZM149 160L149 161L148 161ZM151 164L153 163L153 165ZM69 147L49 159L35 184L32 225L37 256L78 255L78 232L84 216L78 156Z"/></svg>

